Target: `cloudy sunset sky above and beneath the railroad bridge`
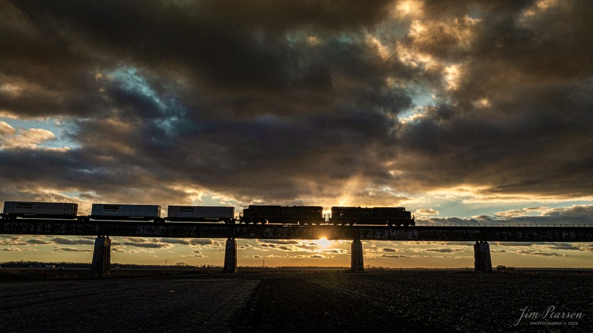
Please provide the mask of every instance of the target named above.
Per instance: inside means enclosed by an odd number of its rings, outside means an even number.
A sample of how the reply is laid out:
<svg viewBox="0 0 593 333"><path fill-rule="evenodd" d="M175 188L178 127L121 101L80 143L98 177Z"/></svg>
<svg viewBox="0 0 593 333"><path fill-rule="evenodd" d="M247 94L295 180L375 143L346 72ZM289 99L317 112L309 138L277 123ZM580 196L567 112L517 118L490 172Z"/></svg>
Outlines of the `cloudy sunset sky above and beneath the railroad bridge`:
<svg viewBox="0 0 593 333"><path fill-rule="evenodd" d="M0 0L0 204L405 206L422 223L593 223L589 1ZM222 264L221 239L112 261ZM469 243L365 242L466 267ZM347 266L349 242L240 240L239 264ZM224 246L223 246L224 247ZM0 261L91 238L0 236ZM492 244L593 267L593 244Z"/></svg>

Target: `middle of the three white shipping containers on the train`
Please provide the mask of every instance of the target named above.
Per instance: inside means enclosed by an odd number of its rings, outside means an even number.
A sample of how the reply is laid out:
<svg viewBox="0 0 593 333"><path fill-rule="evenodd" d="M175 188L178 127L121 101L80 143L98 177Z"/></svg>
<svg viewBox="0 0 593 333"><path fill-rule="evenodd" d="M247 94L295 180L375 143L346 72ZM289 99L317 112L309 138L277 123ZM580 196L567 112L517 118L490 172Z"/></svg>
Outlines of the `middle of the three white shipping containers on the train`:
<svg viewBox="0 0 593 333"><path fill-rule="evenodd" d="M161 206L154 204L104 204L94 203L91 208L93 219L150 219L161 217Z"/></svg>

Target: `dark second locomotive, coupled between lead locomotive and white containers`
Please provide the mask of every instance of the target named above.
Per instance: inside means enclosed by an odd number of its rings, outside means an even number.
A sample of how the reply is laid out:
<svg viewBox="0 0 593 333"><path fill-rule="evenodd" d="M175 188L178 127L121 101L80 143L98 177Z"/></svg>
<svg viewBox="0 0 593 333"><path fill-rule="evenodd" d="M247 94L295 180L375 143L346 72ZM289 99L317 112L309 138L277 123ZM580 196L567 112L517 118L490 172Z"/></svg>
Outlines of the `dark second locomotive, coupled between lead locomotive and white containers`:
<svg viewBox="0 0 593 333"><path fill-rule="evenodd" d="M292 223L311 225L323 223L321 206L267 206L250 204L243 209L241 223Z"/></svg>

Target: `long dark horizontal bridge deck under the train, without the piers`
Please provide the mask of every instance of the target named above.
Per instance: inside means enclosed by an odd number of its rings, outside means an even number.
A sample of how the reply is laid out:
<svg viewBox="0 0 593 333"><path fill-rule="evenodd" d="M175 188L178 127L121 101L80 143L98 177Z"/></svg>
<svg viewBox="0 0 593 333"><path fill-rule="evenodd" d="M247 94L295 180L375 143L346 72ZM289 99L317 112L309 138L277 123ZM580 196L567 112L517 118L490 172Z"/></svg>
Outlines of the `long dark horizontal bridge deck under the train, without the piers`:
<svg viewBox="0 0 593 333"><path fill-rule="evenodd" d="M0 234L389 241L593 242L585 226L334 226L0 219Z"/></svg>

